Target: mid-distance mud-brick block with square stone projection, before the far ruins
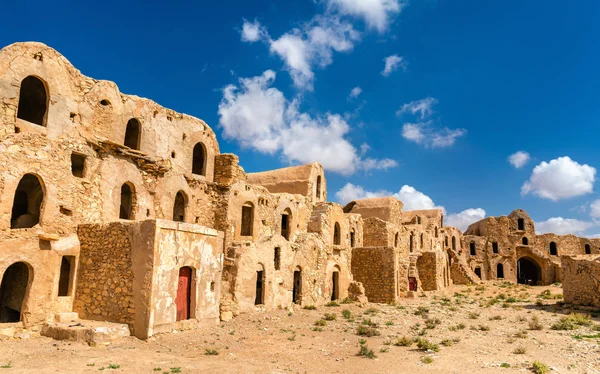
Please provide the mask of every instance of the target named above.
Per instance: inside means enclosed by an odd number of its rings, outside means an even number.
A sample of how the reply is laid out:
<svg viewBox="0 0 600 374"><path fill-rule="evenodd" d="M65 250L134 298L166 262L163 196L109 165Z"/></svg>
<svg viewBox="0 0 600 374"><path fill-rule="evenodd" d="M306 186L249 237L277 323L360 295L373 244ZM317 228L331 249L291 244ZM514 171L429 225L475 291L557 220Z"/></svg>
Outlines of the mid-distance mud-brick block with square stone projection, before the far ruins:
<svg viewBox="0 0 600 374"><path fill-rule="evenodd" d="M394 197L355 200L344 207L363 218L363 246L352 250L352 274L370 301L396 302L452 284L442 211L403 212L402 207Z"/></svg>

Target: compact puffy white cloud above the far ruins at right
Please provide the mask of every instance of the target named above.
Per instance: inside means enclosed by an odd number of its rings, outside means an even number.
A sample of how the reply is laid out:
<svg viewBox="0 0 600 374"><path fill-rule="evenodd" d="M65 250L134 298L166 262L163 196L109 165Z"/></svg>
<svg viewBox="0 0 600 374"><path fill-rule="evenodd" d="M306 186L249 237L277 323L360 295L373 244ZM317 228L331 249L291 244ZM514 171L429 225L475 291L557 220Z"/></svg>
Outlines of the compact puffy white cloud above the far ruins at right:
<svg viewBox="0 0 600 374"><path fill-rule="evenodd" d="M569 157L559 157L536 166L521 194L532 193L544 199L557 201L593 191L596 169L581 165Z"/></svg>

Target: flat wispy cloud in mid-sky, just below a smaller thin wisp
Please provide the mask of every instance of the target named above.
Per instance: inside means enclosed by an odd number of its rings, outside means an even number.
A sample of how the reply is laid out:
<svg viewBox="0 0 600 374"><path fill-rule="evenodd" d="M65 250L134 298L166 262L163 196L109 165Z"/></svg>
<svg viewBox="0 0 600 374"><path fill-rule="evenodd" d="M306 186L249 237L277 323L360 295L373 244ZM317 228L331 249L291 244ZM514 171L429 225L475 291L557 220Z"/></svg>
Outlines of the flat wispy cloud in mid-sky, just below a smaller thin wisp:
<svg viewBox="0 0 600 374"><path fill-rule="evenodd" d="M407 122L402 126L402 137L427 148L444 148L453 145L456 139L465 135L465 129L436 129L431 122Z"/></svg>

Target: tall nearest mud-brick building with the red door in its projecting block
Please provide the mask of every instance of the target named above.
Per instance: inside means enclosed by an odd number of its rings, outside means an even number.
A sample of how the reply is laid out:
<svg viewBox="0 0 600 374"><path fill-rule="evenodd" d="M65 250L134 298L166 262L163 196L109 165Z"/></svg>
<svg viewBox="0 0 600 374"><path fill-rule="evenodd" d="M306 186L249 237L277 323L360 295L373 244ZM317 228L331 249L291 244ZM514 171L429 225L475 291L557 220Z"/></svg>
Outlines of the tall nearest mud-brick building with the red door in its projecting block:
<svg viewBox="0 0 600 374"><path fill-rule="evenodd" d="M0 323L78 313L136 336L348 295L362 219L319 164L246 174L202 120L0 50Z"/></svg>

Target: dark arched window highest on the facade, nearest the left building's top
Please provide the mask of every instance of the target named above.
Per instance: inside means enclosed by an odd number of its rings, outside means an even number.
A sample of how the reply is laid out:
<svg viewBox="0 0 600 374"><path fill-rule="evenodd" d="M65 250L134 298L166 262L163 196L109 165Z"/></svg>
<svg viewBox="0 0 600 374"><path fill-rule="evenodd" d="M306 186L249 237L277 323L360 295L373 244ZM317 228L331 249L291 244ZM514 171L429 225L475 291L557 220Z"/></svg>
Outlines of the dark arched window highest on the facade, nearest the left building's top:
<svg viewBox="0 0 600 374"><path fill-rule="evenodd" d="M17 118L36 125L46 125L48 92L44 82L30 75L21 82Z"/></svg>

